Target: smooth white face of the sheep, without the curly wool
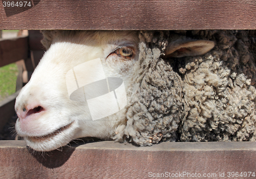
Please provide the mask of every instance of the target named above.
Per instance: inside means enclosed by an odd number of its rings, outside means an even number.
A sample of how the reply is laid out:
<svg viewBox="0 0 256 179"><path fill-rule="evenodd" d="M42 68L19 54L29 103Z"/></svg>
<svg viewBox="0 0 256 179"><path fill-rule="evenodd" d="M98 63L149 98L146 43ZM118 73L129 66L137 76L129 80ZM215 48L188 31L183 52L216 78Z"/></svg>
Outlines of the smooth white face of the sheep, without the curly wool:
<svg viewBox="0 0 256 179"><path fill-rule="evenodd" d="M92 121L85 102L70 100L65 75L74 66L100 58L105 76L123 79L127 88L137 59L137 36L136 32L80 32L54 39L16 99L16 131L28 146L49 151L76 138L109 139L124 120L119 117L125 109Z"/></svg>

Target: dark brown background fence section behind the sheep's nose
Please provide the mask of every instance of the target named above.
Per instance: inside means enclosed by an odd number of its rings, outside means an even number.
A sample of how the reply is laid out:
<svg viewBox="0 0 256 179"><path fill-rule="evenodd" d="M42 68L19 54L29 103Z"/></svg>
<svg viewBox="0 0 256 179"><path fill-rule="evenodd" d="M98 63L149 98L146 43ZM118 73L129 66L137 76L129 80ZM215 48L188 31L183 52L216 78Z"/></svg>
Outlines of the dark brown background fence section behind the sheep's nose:
<svg viewBox="0 0 256 179"><path fill-rule="evenodd" d="M16 81L16 93L0 101L0 130L14 114L15 99L30 79L35 66L42 57L44 50L40 44L42 35L39 31L29 31L28 36L0 39L0 67L16 62L19 74Z"/></svg>

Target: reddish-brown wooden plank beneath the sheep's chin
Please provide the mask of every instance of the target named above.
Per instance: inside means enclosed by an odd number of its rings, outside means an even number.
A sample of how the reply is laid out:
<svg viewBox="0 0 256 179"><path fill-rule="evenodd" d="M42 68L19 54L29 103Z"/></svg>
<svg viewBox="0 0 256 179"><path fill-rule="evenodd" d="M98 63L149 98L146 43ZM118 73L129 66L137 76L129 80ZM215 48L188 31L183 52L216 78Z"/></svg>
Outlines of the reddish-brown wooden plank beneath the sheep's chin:
<svg viewBox="0 0 256 179"><path fill-rule="evenodd" d="M28 150L24 141L0 141L0 177L5 178L160 178L161 173L166 178L253 178L255 160L255 142L136 147L101 141L41 153Z"/></svg>

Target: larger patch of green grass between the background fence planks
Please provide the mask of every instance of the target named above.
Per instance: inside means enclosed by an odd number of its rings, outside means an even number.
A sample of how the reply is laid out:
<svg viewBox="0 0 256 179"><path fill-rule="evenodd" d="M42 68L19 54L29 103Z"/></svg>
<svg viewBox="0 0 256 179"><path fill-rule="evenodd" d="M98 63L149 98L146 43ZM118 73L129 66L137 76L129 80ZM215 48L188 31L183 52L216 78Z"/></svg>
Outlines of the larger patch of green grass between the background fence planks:
<svg viewBox="0 0 256 179"><path fill-rule="evenodd" d="M15 93L18 68L15 63L0 68L0 101Z"/></svg>

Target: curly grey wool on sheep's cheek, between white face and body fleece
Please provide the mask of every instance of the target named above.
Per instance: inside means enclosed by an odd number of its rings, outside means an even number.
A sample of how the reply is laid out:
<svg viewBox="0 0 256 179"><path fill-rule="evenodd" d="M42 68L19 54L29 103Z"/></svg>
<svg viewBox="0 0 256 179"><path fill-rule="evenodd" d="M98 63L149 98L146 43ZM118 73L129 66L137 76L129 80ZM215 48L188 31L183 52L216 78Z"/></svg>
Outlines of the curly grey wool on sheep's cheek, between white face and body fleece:
<svg viewBox="0 0 256 179"><path fill-rule="evenodd" d="M177 130L184 118L181 77L163 61L168 32L139 34L140 70L133 98L127 110L124 129L127 139L140 146L161 141L177 141Z"/></svg>

